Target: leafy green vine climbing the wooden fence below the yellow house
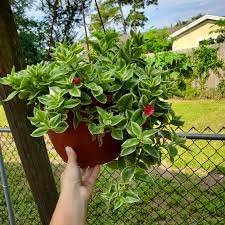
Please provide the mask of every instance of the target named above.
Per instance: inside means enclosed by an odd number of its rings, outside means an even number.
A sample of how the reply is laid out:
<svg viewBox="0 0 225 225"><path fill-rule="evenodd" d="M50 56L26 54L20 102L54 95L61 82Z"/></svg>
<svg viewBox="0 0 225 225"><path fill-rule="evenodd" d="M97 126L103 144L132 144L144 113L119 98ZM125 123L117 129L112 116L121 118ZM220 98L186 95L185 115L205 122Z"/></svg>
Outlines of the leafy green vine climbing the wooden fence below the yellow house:
<svg viewBox="0 0 225 225"><path fill-rule="evenodd" d="M201 90L205 89L209 72L218 73L219 68L223 68L224 63L217 55L218 49L200 45L193 53L193 64L195 77L200 81Z"/></svg>

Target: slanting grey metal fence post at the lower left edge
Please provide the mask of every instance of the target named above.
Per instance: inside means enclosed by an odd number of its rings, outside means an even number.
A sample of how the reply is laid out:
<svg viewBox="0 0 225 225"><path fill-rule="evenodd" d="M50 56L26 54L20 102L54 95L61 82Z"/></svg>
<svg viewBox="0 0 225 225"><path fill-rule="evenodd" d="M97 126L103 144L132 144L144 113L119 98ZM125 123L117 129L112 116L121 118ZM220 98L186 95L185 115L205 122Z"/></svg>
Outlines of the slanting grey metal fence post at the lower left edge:
<svg viewBox="0 0 225 225"><path fill-rule="evenodd" d="M0 146L0 175L1 175L2 187L3 187L4 195L5 195L5 201L6 201L6 205L8 209L8 214L9 214L9 222L10 222L10 225L15 225L16 223L15 223L14 211L13 211L12 201L10 197L10 190L9 190L9 185L7 181L7 176L5 172L1 146Z"/></svg>

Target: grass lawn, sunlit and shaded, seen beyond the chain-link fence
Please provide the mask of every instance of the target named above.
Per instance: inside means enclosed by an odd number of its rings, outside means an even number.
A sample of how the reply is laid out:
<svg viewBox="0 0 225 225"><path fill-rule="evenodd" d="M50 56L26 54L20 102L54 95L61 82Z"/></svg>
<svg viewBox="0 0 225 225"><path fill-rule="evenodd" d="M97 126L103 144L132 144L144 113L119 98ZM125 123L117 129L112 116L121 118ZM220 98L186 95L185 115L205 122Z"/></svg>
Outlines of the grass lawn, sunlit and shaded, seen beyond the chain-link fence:
<svg viewBox="0 0 225 225"><path fill-rule="evenodd" d="M185 131L194 126L201 132L209 126L218 132L224 127L224 100L172 102L177 114L182 115L186 121L183 128ZM6 126L2 108L0 113L0 126ZM209 129L205 131L210 132ZM1 140L6 137L8 143L11 143L10 134L4 137L0 134L0 137ZM188 141L187 144L191 151L180 150L174 165L164 160L160 167L152 169L154 180L152 184L133 184L134 189L140 190L142 202L122 207L119 211L107 210L104 200L100 197L102 191L111 183L112 177L116 177L116 172L112 175L112 171L104 167L90 205L89 224L162 225L166 222L171 225L224 224L224 143ZM24 221L27 223L29 221L29 224L37 225L39 224L37 210L18 155L14 147L8 149L6 147L7 145L3 144L17 224L22 225ZM62 170L61 161L53 151L49 151L49 155L58 183ZM2 191L0 191L0 224L8 224Z"/></svg>

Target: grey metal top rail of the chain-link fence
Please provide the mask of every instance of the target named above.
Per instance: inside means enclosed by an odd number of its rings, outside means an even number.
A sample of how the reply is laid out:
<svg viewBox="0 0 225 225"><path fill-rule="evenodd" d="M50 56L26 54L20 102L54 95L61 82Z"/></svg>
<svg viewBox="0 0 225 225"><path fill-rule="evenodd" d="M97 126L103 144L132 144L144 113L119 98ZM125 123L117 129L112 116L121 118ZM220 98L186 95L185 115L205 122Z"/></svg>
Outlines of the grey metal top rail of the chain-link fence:
<svg viewBox="0 0 225 225"><path fill-rule="evenodd" d="M9 127L0 127L0 133L11 133L11 129ZM225 141L225 134L202 134L202 133L177 132L177 135L179 137L185 137L187 139Z"/></svg>

